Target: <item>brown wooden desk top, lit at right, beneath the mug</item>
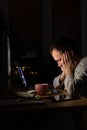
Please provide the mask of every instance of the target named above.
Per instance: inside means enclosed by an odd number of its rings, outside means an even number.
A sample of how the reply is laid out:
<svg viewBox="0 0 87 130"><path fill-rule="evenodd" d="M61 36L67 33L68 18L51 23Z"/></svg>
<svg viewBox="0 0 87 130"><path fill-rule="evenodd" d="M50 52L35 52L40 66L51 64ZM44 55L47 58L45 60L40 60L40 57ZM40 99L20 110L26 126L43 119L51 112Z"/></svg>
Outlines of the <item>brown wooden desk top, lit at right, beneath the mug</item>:
<svg viewBox="0 0 87 130"><path fill-rule="evenodd" d="M0 110L35 110L35 109L87 109L87 98L81 97L79 99L71 99L67 101L56 101L56 102L51 102L47 101L45 104L28 104L28 102L24 101L24 103L18 103L17 98L13 96L11 93L10 94L0 94L0 104L3 102L2 105L0 105ZM9 103L7 103L9 102ZM14 105L11 104L12 102L15 102ZM7 105L5 105L7 103Z"/></svg>

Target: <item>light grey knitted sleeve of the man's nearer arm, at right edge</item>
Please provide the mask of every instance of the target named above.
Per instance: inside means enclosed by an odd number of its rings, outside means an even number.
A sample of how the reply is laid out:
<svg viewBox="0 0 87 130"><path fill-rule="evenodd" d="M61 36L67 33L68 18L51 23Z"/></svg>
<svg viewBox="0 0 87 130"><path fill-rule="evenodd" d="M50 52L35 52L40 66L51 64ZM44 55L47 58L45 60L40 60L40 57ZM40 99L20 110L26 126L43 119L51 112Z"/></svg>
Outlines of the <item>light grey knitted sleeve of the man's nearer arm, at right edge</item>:
<svg viewBox="0 0 87 130"><path fill-rule="evenodd" d="M70 96L81 93L87 94L87 67L84 64L80 64L74 75L66 76L64 86Z"/></svg>

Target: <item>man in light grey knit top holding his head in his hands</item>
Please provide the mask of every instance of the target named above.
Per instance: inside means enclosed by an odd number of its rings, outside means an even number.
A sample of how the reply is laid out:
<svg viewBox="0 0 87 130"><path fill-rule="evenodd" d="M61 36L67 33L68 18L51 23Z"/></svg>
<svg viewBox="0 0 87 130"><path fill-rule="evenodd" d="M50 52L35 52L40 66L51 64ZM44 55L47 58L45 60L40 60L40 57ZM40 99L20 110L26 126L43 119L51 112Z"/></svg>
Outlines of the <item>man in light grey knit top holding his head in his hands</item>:
<svg viewBox="0 0 87 130"><path fill-rule="evenodd" d="M50 54L61 68L53 80L54 88L64 86L70 97L87 94L87 57L81 57L76 43L61 37L50 46Z"/></svg>

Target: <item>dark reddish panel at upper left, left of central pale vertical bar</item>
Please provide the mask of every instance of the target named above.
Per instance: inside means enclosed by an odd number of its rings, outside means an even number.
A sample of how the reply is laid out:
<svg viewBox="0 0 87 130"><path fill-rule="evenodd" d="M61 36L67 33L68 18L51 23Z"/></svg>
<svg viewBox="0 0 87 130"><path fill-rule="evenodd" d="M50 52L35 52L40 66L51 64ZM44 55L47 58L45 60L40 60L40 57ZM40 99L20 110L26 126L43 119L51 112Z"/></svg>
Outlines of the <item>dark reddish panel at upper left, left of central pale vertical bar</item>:
<svg viewBox="0 0 87 130"><path fill-rule="evenodd" d="M41 1L10 0L9 19L13 57L41 48ZM16 52L16 53L15 53Z"/></svg>

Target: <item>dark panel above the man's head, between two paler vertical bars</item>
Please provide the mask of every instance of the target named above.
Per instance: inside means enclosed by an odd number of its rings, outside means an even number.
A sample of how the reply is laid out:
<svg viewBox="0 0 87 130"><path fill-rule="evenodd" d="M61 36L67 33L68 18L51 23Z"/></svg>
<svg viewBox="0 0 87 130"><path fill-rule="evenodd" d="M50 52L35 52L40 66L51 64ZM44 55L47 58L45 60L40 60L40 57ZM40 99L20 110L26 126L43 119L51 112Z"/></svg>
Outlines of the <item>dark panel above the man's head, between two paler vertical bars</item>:
<svg viewBox="0 0 87 130"><path fill-rule="evenodd" d="M67 35L79 42L81 46L79 0L52 0L53 39Z"/></svg>

